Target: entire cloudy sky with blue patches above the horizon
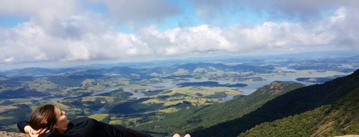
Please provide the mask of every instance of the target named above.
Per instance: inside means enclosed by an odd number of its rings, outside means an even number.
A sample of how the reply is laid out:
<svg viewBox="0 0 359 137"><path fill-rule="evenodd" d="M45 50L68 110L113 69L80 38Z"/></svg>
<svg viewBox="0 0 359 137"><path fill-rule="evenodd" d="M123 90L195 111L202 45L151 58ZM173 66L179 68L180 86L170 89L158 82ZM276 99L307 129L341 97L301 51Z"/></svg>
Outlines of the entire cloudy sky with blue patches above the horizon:
<svg viewBox="0 0 359 137"><path fill-rule="evenodd" d="M0 71L348 50L359 1L0 0Z"/></svg>

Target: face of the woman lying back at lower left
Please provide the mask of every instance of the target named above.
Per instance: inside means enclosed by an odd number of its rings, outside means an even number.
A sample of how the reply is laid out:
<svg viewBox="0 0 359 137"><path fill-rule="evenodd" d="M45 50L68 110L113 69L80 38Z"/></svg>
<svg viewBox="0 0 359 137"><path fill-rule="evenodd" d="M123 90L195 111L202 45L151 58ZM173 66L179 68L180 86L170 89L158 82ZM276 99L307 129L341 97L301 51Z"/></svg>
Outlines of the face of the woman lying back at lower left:
<svg viewBox="0 0 359 137"><path fill-rule="evenodd" d="M69 123L65 115L65 111L61 111L59 108L55 107L55 113L57 122L54 128L59 132L65 132Z"/></svg>

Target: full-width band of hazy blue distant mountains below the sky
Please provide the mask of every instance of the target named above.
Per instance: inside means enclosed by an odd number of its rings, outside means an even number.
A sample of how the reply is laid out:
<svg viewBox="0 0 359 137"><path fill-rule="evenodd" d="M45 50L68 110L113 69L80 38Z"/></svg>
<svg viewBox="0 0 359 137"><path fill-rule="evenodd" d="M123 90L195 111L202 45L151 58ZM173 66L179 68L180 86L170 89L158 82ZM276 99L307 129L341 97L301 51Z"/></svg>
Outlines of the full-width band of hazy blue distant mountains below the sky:
<svg viewBox="0 0 359 137"><path fill-rule="evenodd" d="M316 57L306 59L301 57L295 57L295 55L299 56L303 55L303 53L290 54L290 56L282 55L282 57L264 56L255 58L198 58L196 60L202 60L202 62L195 62L192 61L192 59L187 59L117 64L93 64L63 69L29 67L25 69L15 69L11 71L0 72L0 76L14 78L40 77L49 75L105 75L109 73L123 75L149 75L151 73L157 73L162 75L168 75L176 72L178 69L184 69L193 72L198 68L207 69L208 71L220 70L224 72L270 73L274 71L275 67L288 67L289 69L294 70L314 69L348 73L355 71L359 67L359 56L337 57L334 56L336 55L334 54L332 57L337 58Z"/></svg>

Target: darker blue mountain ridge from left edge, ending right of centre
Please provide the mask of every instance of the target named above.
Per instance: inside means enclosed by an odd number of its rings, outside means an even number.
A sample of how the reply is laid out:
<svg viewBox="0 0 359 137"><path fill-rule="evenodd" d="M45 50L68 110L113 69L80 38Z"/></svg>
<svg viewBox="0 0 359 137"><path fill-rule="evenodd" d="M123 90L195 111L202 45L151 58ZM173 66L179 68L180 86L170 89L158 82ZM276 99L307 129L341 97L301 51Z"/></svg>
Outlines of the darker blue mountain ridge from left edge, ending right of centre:
<svg viewBox="0 0 359 137"><path fill-rule="evenodd" d="M20 70L12 70L6 72L0 72L0 76L6 77L39 77L39 76L68 76L68 75L106 75L106 74L121 74L121 75L130 75L138 74L141 76L146 76L152 73L157 73L161 75L170 75L176 72L178 69L184 69L189 72L193 72L196 69L209 69L212 70L221 70L227 72L258 72L258 73L270 73L275 68L271 65L266 66L255 66L255 65L225 65L222 63L187 63L179 65L176 67L153 67L153 68L144 68L144 69L135 69L127 66L115 66L110 69L98 69L98 70L75 70L72 68L68 69L43 69L38 67L30 67ZM212 68L212 69L211 69Z"/></svg>

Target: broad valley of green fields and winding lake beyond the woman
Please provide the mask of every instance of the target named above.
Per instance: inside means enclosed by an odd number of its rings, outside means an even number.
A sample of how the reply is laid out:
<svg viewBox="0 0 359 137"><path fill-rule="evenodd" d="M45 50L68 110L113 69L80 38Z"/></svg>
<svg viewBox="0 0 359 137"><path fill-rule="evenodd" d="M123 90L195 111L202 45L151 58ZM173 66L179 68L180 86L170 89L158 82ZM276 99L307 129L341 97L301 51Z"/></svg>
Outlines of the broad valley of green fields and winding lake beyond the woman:
<svg viewBox="0 0 359 137"><path fill-rule="evenodd" d="M28 68L0 72L0 130L17 131L15 124L28 120L36 107L54 104L66 111L69 120L90 117L156 136L175 130L195 131L241 117L290 91L253 97L253 93L274 81L283 81L281 84L295 89L347 76L359 68L359 60L347 58L281 60L284 61L268 57L231 58L171 65L162 61L156 67L114 66L77 71ZM332 65L338 60L341 65ZM231 115L211 122L222 114L204 113L251 97L255 99L243 104L238 115L229 109ZM178 124L170 127L168 123Z"/></svg>

